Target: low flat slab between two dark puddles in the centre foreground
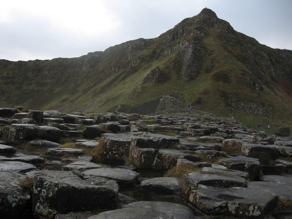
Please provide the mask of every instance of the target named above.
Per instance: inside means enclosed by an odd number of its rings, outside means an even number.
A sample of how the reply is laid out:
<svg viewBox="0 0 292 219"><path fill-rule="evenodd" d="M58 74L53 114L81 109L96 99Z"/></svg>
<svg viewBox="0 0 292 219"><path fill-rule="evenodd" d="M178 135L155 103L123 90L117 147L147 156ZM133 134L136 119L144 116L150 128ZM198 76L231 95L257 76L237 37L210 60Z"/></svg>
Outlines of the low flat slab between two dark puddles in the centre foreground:
<svg viewBox="0 0 292 219"><path fill-rule="evenodd" d="M178 178L174 177L157 177L143 180L139 186L147 189L178 193L179 181Z"/></svg>

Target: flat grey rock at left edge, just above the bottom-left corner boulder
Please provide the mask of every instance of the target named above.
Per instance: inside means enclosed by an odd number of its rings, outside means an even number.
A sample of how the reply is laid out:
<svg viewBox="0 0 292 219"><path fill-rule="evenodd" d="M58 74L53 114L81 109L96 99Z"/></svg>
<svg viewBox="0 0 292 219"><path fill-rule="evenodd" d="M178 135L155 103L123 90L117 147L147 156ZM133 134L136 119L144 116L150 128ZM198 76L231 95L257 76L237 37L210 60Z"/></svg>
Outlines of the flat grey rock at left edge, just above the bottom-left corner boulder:
<svg viewBox="0 0 292 219"><path fill-rule="evenodd" d="M1 161L0 171L10 173L25 173L34 170L36 167L20 161Z"/></svg>

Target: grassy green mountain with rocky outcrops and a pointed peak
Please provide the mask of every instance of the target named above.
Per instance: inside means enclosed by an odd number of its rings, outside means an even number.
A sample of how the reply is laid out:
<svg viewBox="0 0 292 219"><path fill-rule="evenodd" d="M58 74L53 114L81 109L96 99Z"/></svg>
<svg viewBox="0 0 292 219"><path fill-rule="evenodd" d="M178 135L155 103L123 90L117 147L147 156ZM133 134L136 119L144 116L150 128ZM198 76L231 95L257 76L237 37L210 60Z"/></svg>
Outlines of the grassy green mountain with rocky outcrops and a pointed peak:
<svg viewBox="0 0 292 219"><path fill-rule="evenodd" d="M246 125L289 125L291 72L292 51L262 45L204 8L154 39L79 58L0 60L0 106L108 112L126 104L143 112L173 94Z"/></svg>

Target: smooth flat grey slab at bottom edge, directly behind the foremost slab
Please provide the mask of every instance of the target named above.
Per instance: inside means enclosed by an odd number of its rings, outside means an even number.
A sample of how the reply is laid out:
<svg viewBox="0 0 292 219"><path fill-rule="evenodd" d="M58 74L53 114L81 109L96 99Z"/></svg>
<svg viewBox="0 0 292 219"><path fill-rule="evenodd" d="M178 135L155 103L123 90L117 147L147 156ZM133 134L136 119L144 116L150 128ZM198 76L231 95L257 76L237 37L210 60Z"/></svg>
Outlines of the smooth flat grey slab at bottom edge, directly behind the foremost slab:
<svg viewBox="0 0 292 219"><path fill-rule="evenodd" d="M135 201L122 206L123 209L140 209L155 212L158 218L196 219L191 208L165 201ZM151 217L148 217L151 218ZM155 218L155 217L154 217Z"/></svg>

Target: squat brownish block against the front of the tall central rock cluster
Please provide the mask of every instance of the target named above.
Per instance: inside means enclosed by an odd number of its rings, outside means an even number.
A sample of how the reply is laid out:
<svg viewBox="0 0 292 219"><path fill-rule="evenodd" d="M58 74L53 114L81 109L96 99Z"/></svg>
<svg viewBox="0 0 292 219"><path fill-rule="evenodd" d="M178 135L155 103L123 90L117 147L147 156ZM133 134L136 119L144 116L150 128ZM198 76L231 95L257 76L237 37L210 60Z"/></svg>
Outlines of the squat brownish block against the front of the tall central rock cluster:
<svg viewBox="0 0 292 219"><path fill-rule="evenodd" d="M134 147L129 157L137 169L162 170L162 161L158 159L157 149Z"/></svg>

